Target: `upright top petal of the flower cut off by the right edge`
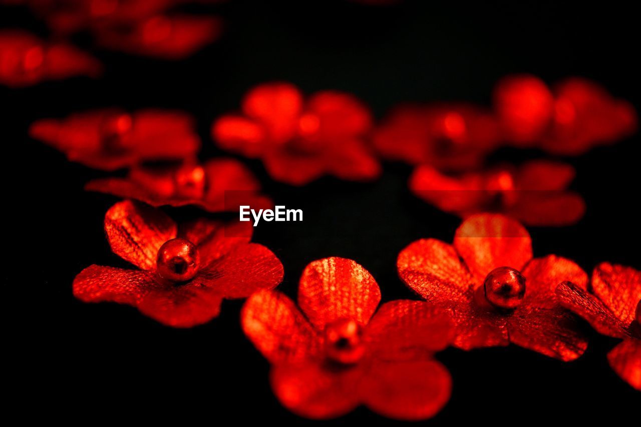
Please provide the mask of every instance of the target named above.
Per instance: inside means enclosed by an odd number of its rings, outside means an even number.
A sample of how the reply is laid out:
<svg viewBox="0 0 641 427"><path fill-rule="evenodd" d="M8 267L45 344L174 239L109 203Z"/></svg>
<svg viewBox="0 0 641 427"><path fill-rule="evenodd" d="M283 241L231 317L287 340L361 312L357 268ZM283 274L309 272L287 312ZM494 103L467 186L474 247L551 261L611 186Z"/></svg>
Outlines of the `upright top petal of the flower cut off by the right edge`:
<svg viewBox="0 0 641 427"><path fill-rule="evenodd" d="M641 271L608 262L599 264L592 272L592 292L620 321L629 325L635 320L641 300Z"/></svg>

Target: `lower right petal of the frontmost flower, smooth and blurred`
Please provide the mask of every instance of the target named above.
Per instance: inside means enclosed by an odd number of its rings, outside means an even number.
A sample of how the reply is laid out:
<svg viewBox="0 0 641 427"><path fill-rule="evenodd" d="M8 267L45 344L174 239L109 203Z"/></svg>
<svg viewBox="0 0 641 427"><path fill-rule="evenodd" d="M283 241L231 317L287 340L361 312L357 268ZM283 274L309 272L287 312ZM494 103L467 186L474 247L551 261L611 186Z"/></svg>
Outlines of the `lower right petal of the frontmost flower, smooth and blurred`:
<svg viewBox="0 0 641 427"><path fill-rule="evenodd" d="M378 361L372 363L360 390L372 411L393 419L420 420L433 417L445 406L452 380L435 360Z"/></svg>

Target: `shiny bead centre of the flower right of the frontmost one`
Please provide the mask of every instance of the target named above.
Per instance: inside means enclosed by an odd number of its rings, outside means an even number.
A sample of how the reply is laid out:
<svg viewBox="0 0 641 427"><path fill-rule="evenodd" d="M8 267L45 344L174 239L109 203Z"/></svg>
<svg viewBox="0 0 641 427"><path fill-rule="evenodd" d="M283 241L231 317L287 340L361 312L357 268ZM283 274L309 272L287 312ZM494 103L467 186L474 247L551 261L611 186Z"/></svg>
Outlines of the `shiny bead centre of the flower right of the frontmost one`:
<svg viewBox="0 0 641 427"><path fill-rule="evenodd" d="M518 270L499 267L490 271L483 288L485 298L497 308L512 310L517 308L525 296L525 278Z"/></svg>

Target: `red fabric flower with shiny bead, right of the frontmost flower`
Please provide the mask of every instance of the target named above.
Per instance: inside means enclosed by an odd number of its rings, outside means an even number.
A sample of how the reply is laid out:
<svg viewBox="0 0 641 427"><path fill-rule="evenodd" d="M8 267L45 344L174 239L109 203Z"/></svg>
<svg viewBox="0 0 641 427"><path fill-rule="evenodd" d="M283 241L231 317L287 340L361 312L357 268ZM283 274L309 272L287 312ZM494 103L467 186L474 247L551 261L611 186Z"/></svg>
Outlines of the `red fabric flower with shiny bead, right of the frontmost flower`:
<svg viewBox="0 0 641 427"><path fill-rule="evenodd" d="M453 245L417 240L401 251L397 267L410 288L451 312L456 347L512 342L565 361L587 348L574 316L554 298L564 280L585 289L587 274L560 256L532 258L528 231L513 219L472 215L456 230Z"/></svg>

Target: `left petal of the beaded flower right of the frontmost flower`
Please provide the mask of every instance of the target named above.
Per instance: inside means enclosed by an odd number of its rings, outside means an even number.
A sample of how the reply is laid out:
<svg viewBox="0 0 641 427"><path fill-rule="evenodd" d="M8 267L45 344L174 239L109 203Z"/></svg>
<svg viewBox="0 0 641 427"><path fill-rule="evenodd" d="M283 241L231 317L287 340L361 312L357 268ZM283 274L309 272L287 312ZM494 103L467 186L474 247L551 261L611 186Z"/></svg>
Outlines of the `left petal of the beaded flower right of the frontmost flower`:
<svg viewBox="0 0 641 427"><path fill-rule="evenodd" d="M436 239L421 239L399 253L396 266L401 280L427 301L467 301L472 275L453 246Z"/></svg>

